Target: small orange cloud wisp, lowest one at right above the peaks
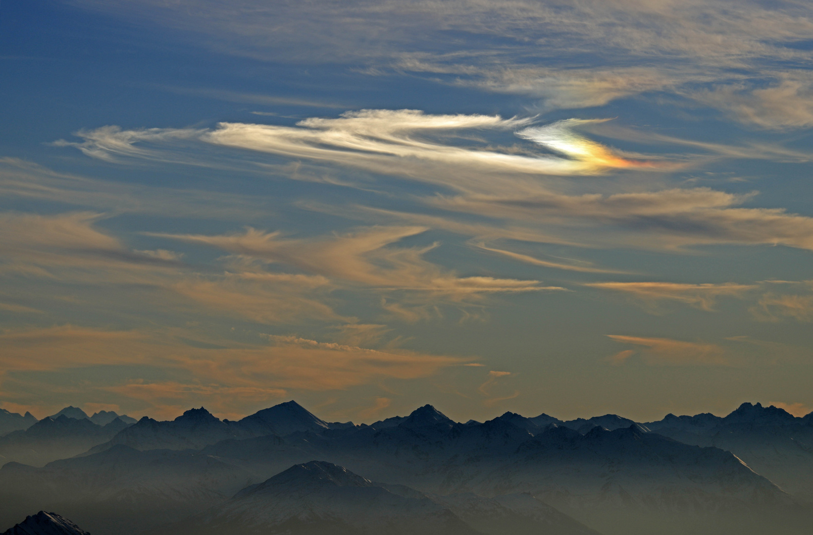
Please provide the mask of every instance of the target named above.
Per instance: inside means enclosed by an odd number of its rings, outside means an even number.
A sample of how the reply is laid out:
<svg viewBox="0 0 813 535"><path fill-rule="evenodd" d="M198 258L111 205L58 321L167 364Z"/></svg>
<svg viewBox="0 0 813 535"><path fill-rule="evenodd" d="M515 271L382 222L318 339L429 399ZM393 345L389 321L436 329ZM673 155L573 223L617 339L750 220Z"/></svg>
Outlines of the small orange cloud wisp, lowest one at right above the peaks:
<svg viewBox="0 0 813 535"><path fill-rule="evenodd" d="M607 337L638 346L635 350L624 350L607 359L616 365L626 363L633 354L640 354L644 363L654 366L725 366L729 363L726 350L715 344L616 334L608 334Z"/></svg>

